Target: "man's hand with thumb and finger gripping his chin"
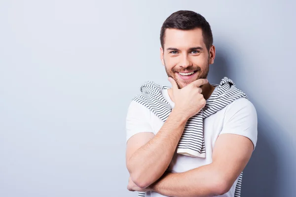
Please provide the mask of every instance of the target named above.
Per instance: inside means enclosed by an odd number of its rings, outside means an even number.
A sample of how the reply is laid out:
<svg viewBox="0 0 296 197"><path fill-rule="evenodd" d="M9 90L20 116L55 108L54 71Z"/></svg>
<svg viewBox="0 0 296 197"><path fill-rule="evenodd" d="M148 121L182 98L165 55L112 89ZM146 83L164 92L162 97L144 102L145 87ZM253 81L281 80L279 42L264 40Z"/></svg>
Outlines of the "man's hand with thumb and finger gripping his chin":
<svg viewBox="0 0 296 197"><path fill-rule="evenodd" d="M172 84L174 111L184 114L189 119L206 105L206 99L201 94L200 86L208 83L207 79L197 79L182 89L178 89L178 85L172 77L169 77L169 81Z"/></svg>

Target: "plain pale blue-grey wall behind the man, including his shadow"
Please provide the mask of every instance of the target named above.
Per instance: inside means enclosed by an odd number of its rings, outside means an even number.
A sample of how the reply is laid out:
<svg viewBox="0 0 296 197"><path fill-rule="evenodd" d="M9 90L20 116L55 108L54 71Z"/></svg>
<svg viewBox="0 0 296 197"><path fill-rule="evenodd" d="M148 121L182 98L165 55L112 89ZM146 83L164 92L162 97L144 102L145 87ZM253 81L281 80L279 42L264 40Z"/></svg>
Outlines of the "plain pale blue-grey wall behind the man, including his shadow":
<svg viewBox="0 0 296 197"><path fill-rule="evenodd" d="M167 81L159 33L201 13L217 47L209 80L233 79L259 116L242 197L296 193L295 1L0 0L0 197L136 196L125 115Z"/></svg>

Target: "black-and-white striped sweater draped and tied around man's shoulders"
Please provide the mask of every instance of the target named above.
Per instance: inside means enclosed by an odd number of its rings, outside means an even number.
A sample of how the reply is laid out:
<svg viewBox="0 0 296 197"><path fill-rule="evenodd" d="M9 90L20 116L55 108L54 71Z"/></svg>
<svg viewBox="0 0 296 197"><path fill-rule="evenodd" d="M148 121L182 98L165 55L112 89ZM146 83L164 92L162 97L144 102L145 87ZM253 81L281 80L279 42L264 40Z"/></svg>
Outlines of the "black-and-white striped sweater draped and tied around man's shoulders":
<svg viewBox="0 0 296 197"><path fill-rule="evenodd" d="M226 105L239 98L246 98L247 95L236 88L231 79L224 77L218 89L207 100L205 107L196 115L188 119L184 132L180 138L177 147L177 153L190 157L206 157L205 142L203 137L203 119L216 113ZM172 108L168 101L162 96L161 90L168 89L167 86L161 86L154 82L148 81L140 87L142 94L137 95L132 100L135 100L150 111L157 115L165 122L170 115ZM242 173L239 177L239 182L236 185L235 197L240 197ZM143 197L143 193L139 192L139 196Z"/></svg>

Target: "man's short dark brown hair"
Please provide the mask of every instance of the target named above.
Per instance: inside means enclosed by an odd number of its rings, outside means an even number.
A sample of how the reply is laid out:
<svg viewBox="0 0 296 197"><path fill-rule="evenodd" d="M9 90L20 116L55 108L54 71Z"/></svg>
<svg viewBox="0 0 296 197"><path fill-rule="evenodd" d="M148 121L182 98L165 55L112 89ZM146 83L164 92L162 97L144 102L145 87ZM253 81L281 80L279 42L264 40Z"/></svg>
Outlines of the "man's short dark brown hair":
<svg viewBox="0 0 296 197"><path fill-rule="evenodd" d="M160 30L161 47L163 48L164 45L166 29L193 30L195 28L202 30L203 41L207 49L210 50L210 47L213 45L213 34L210 24L202 15L189 10L174 12L164 21Z"/></svg>

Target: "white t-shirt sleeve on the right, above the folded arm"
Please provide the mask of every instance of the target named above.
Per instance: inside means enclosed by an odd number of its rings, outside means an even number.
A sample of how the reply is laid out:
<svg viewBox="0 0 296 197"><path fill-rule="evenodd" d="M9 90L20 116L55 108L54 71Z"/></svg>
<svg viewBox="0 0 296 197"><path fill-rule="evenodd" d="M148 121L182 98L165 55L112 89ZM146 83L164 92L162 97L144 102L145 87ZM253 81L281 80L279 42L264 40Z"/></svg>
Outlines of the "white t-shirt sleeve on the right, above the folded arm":
<svg viewBox="0 0 296 197"><path fill-rule="evenodd" d="M239 98L228 105L220 134L231 133L248 137L253 142L255 150L258 134L257 125L255 106L248 99Z"/></svg>

